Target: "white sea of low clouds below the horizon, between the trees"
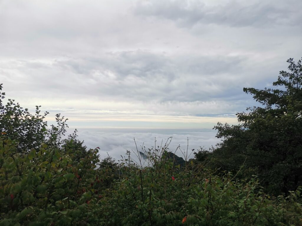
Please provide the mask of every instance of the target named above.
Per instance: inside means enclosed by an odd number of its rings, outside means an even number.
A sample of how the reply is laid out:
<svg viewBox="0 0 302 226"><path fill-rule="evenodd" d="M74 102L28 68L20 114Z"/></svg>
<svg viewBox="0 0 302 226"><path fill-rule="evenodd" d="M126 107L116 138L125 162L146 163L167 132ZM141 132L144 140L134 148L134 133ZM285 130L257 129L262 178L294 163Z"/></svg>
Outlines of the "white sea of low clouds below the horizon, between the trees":
<svg viewBox="0 0 302 226"><path fill-rule="evenodd" d="M78 138L85 141L87 148L100 147L101 159L106 158L108 152L116 160L120 160L120 155L124 156L126 150L136 151L133 138L135 138L139 150L141 150L141 146L145 146L146 150L154 146L155 138L156 146L160 146L161 143L164 145L167 139L172 137L172 142L169 145L171 151L175 151L178 145L182 151L187 150L187 143L189 143L189 152L192 149L199 149L200 146L207 149L219 143L219 140L215 138L216 133L214 131L203 132L201 130L82 129L78 134ZM180 150L176 154L182 157ZM192 154L190 158L193 157Z"/></svg>

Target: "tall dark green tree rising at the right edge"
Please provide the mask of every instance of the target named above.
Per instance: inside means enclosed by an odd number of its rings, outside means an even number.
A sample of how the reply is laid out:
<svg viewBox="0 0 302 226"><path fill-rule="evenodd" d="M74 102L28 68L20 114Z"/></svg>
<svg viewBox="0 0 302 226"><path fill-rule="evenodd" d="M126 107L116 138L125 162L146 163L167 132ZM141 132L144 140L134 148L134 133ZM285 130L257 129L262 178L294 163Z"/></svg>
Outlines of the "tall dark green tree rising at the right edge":
<svg viewBox="0 0 302 226"><path fill-rule="evenodd" d="M289 72L280 71L273 83L277 89L243 89L262 107L237 113L238 125L214 127L223 138L213 152L217 167L238 170L244 163L273 193L296 190L302 182L302 65L293 58L287 62Z"/></svg>

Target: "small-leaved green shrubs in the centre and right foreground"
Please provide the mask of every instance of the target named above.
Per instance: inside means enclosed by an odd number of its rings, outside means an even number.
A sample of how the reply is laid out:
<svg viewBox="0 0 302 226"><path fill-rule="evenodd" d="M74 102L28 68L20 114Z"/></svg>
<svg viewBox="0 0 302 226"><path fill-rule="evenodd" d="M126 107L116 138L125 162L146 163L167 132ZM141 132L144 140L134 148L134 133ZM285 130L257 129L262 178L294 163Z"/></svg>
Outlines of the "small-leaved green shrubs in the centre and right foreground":
<svg viewBox="0 0 302 226"><path fill-rule="evenodd" d="M287 198L291 202L286 202L283 196L275 201L263 193L255 176L249 181L239 181L231 173L214 176L205 169L195 170L198 165L194 164L187 172L178 171L172 159L154 156L154 152L148 158L158 159L152 163L155 167L131 167L130 174L107 193L107 225L302 223L299 190ZM283 203L287 206L282 206ZM292 203L298 208L292 207ZM282 211L284 215L280 214Z"/></svg>

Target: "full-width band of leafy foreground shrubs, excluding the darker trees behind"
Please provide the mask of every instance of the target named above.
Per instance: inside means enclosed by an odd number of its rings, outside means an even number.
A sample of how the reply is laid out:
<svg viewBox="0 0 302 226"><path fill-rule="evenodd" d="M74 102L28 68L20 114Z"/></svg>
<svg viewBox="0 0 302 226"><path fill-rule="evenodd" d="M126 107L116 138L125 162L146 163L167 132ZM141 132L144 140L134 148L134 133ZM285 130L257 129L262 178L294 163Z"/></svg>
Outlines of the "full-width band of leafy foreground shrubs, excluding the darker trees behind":
<svg viewBox="0 0 302 226"><path fill-rule="evenodd" d="M165 158L165 148L157 156L149 153L154 167L140 168L130 161L100 168L98 149L82 155L75 140L66 146L42 143L18 153L18 142L2 135L0 225L302 223L301 190L270 197L255 176L236 180L231 173L213 175L195 163L179 170Z"/></svg>

